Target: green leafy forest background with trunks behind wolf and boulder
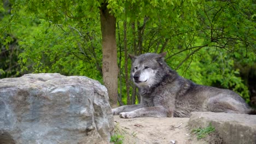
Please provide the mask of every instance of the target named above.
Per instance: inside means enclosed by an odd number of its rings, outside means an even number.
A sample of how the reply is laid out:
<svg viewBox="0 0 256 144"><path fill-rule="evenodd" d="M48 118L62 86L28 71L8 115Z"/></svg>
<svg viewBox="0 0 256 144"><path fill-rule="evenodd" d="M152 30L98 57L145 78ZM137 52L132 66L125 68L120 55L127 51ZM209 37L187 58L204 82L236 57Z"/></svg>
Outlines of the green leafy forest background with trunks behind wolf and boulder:
<svg viewBox="0 0 256 144"><path fill-rule="evenodd" d="M256 104L253 0L3 0L0 78L83 75L136 104L128 54L167 52L178 74Z"/></svg>

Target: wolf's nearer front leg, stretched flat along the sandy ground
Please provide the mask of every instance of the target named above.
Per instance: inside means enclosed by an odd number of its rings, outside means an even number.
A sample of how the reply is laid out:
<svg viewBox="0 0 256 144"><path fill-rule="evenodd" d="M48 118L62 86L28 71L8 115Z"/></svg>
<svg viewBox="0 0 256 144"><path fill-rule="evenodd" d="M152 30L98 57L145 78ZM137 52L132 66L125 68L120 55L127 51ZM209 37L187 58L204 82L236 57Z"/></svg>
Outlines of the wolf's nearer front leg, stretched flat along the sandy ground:
<svg viewBox="0 0 256 144"><path fill-rule="evenodd" d="M133 117L173 117L173 112L168 111L163 106L154 107L142 107L135 111L121 112L119 114L121 118L133 118Z"/></svg>

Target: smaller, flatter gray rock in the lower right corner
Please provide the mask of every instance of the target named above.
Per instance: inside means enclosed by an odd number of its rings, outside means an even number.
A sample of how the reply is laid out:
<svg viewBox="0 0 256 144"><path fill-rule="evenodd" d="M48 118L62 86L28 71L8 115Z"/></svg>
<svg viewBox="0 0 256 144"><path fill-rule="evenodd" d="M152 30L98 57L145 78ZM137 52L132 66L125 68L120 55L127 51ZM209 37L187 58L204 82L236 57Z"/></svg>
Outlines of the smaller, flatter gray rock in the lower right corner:
<svg viewBox="0 0 256 144"><path fill-rule="evenodd" d="M223 143L256 143L256 115L237 113L193 112L190 129L205 128L212 124Z"/></svg>

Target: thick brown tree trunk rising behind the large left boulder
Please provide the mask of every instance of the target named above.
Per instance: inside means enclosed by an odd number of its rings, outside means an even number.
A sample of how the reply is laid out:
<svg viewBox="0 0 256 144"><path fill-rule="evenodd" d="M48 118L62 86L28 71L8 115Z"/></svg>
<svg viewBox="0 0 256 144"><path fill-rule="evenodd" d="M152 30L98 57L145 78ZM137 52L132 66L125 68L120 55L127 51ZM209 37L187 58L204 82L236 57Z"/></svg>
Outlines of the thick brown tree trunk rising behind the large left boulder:
<svg viewBox="0 0 256 144"><path fill-rule="evenodd" d="M109 14L107 2L101 4L100 17L103 82L108 89L109 103L112 107L115 107L118 98L117 42L115 39L116 19L112 14Z"/></svg>

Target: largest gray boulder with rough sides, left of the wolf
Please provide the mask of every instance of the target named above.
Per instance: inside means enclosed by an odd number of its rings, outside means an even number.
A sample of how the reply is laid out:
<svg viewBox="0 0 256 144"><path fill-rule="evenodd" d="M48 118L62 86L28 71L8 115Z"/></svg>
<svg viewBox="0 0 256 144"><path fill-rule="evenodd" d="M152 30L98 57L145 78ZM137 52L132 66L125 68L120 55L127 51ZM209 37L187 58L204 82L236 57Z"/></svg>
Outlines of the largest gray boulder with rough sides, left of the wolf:
<svg viewBox="0 0 256 144"><path fill-rule="evenodd" d="M109 143L113 128L98 81L60 74L0 80L0 143Z"/></svg>

